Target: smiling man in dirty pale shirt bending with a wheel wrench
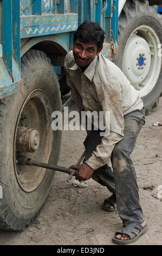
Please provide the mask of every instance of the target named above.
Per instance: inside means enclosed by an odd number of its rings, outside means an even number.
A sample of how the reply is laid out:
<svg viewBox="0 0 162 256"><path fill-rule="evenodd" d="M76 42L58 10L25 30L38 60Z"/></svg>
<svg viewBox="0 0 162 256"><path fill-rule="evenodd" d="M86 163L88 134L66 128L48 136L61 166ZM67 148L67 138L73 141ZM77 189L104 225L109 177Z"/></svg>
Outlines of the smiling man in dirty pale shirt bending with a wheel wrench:
<svg viewBox="0 0 162 256"><path fill-rule="evenodd" d="M145 112L139 92L102 56L104 39L105 32L98 23L83 22L74 33L73 51L65 59L67 84L80 110L110 113L109 134L101 137L100 130L93 129L86 139L85 161L71 168L79 171L79 181L93 178L113 193L102 205L107 211L116 210L117 205L124 225L113 241L131 243L147 231L130 158L145 123ZM107 166L110 160L113 171Z"/></svg>

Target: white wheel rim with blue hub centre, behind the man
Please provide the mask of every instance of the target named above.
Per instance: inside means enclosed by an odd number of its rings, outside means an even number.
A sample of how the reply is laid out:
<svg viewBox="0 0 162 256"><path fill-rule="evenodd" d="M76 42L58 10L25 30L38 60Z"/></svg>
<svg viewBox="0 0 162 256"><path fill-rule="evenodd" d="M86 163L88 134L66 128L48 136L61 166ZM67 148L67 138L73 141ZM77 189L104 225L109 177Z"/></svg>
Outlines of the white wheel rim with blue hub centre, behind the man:
<svg viewBox="0 0 162 256"><path fill-rule="evenodd" d="M158 56L159 45L157 33L147 25L136 28L126 43L122 71L141 97L151 92L157 83L162 59Z"/></svg>

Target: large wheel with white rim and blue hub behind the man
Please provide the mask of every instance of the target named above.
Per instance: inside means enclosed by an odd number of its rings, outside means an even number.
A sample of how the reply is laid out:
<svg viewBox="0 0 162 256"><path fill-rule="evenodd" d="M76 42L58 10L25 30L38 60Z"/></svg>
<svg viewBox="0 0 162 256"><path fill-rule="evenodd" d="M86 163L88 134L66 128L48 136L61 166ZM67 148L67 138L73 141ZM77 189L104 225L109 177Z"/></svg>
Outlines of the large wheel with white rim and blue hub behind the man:
<svg viewBox="0 0 162 256"><path fill-rule="evenodd" d="M146 114L162 92L162 15L148 1L127 0L119 17L119 53L115 64L140 90Z"/></svg>

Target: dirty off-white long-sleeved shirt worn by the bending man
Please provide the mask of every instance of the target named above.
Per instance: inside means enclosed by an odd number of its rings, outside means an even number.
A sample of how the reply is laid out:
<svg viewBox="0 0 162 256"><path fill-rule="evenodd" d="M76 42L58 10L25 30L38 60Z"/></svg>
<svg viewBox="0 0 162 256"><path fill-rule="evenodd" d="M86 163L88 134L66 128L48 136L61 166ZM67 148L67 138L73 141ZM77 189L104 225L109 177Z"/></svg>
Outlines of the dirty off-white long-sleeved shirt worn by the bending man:
<svg viewBox="0 0 162 256"><path fill-rule="evenodd" d="M73 51L70 51L66 55L64 67L67 84L80 111L110 112L109 135L103 136L101 143L86 161L96 170L109 163L115 144L124 137L124 115L141 110L144 105L139 92L131 86L118 66L101 53L82 72L75 63Z"/></svg>

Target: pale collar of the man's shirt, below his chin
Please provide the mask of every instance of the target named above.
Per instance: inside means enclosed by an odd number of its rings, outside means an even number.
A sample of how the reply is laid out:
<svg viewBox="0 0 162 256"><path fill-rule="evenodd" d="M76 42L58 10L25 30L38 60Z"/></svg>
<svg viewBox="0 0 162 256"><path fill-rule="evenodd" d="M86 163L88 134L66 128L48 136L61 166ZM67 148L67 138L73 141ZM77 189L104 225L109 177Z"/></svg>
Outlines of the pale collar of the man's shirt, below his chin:
<svg viewBox="0 0 162 256"><path fill-rule="evenodd" d="M90 63L88 68L83 72L83 74L85 74L90 81L92 81L92 79L94 77L95 67L96 67L97 60L98 60L98 56L95 56L93 62ZM81 68L79 66L77 66L76 63L72 66L72 68L69 68L69 69L70 70L77 70L77 69L81 70Z"/></svg>

